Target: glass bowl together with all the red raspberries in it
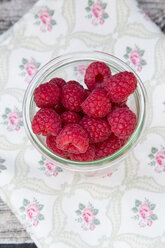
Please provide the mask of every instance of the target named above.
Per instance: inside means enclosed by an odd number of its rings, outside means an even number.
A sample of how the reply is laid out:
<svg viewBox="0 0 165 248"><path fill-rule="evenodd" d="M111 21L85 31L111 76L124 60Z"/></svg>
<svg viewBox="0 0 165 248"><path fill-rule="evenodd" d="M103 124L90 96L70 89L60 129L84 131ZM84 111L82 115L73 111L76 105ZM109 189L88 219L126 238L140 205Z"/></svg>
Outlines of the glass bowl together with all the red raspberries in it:
<svg viewBox="0 0 165 248"><path fill-rule="evenodd" d="M23 101L32 144L62 168L115 168L139 142L147 95L137 74L103 52L75 52L43 66Z"/></svg>

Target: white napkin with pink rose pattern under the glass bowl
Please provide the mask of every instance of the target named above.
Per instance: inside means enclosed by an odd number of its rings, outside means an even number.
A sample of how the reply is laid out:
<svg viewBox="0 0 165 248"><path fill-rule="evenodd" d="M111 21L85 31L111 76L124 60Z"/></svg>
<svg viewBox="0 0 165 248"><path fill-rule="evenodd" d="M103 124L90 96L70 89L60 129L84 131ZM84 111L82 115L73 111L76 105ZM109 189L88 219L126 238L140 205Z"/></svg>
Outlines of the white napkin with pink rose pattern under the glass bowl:
<svg viewBox="0 0 165 248"><path fill-rule="evenodd" d="M34 74L71 51L101 50L143 80L140 144L113 174L85 178L28 141L22 100ZM165 37L133 0L40 0L0 38L0 196L38 247L165 247ZM74 68L80 77L83 66Z"/></svg>

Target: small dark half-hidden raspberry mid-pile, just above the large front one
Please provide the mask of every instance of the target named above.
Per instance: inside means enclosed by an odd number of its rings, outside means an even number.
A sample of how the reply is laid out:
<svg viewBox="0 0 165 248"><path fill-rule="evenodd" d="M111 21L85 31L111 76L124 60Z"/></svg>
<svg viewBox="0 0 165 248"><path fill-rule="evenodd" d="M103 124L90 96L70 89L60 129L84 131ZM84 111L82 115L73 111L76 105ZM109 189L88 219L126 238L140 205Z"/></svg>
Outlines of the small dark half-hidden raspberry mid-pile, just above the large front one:
<svg viewBox="0 0 165 248"><path fill-rule="evenodd" d="M66 111L61 115L61 121L63 126L66 126L67 124L71 123L79 123L81 117L79 114L72 112L72 111Z"/></svg>

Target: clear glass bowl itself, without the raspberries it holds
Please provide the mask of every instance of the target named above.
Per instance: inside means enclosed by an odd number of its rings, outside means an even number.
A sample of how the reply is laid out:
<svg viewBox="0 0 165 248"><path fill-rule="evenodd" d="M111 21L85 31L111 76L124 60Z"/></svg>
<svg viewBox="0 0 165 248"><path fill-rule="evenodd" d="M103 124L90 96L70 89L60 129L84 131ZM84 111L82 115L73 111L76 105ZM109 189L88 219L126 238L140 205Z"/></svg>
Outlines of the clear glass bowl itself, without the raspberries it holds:
<svg viewBox="0 0 165 248"><path fill-rule="evenodd" d="M45 137L33 133L31 121L38 110L33 100L33 92L36 87L42 83L48 82L53 77L62 77L66 81L77 80L86 88L83 82L83 71L84 68L93 61L102 61L106 63L110 67L112 74L121 71L131 71L136 75L138 80L137 89L134 94L129 97L127 104L136 114L138 122L136 129L128 142L114 154L89 162L71 161L53 153L49 148L47 148ZM147 94L142 81L138 75L120 59L103 52L70 53L56 57L48 62L38 71L30 82L23 101L24 127L34 147L36 147L44 157L56 163L58 166L79 172L96 172L109 168L110 170L108 171L111 172L118 167L117 165L119 162L128 156L135 145L139 142L146 123L147 102Z"/></svg>

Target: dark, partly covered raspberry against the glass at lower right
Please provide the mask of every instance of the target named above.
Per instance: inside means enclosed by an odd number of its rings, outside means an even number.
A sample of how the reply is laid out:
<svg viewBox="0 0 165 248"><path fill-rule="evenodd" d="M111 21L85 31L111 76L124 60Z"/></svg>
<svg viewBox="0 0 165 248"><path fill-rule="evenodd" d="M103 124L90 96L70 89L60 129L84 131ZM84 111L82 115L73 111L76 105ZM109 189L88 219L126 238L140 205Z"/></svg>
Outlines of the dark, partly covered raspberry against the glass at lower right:
<svg viewBox="0 0 165 248"><path fill-rule="evenodd" d="M95 159L101 159L113 154L114 152L119 150L124 145L124 143L124 140L121 140L114 134L111 134L111 136L107 140L97 144Z"/></svg>

